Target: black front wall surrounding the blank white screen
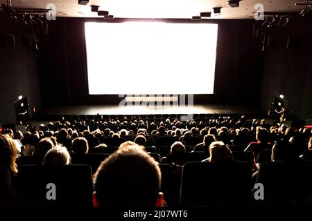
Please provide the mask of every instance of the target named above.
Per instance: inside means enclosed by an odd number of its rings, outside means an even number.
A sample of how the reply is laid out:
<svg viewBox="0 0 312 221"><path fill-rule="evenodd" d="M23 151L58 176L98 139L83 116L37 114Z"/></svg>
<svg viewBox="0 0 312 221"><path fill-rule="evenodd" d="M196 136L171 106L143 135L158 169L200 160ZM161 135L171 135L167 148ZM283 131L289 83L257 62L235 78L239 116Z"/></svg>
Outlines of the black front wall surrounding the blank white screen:
<svg viewBox="0 0 312 221"><path fill-rule="evenodd" d="M112 95L87 95L85 21L103 19L58 18L49 23L49 39L40 60L42 95L45 106L68 104L118 104ZM123 21L114 19L112 22ZM171 20L171 22L193 22ZM218 23L215 95L196 95L200 104L245 104L258 102L261 58L257 39L252 38L252 20L214 20ZM190 82L196 84L189 76ZM152 81L153 82L153 81ZM103 82L105 84L111 84ZM164 85L166 82L164 82ZM167 84L166 84L167 85Z"/></svg>

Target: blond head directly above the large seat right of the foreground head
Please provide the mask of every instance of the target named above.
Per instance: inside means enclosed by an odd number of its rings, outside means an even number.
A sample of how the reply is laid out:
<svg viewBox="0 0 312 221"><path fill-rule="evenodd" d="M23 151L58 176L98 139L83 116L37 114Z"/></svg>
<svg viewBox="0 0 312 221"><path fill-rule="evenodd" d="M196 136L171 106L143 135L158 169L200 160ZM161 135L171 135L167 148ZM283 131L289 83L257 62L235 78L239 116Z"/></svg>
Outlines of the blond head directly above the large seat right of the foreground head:
<svg viewBox="0 0 312 221"><path fill-rule="evenodd" d="M210 162L232 162L233 155L228 145L223 142L212 142L209 146Z"/></svg>

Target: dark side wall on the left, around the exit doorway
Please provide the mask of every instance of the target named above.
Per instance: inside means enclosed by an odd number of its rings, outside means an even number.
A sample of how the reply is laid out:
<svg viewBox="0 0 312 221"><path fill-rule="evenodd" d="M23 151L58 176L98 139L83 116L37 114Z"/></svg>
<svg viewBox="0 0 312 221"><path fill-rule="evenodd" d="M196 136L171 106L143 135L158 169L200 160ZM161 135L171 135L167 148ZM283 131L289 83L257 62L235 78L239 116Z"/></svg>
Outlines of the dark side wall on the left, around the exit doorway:
<svg viewBox="0 0 312 221"><path fill-rule="evenodd" d="M28 110L40 111L41 97L37 59L32 46L22 44L23 35L31 35L30 28L15 26L0 12L0 123L15 123L14 102L22 95L28 99ZM6 46L4 39L14 35L15 47Z"/></svg>

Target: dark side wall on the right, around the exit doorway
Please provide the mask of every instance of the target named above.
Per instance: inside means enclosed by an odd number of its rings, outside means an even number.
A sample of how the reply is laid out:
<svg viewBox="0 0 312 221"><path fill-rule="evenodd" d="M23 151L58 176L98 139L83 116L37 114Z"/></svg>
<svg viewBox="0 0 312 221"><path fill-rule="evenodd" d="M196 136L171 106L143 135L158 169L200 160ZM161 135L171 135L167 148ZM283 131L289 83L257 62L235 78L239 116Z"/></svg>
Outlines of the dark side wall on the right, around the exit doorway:
<svg viewBox="0 0 312 221"><path fill-rule="evenodd" d="M263 52L261 108L270 109L272 99L284 95L288 119L312 119L312 16L265 32L272 44Z"/></svg>

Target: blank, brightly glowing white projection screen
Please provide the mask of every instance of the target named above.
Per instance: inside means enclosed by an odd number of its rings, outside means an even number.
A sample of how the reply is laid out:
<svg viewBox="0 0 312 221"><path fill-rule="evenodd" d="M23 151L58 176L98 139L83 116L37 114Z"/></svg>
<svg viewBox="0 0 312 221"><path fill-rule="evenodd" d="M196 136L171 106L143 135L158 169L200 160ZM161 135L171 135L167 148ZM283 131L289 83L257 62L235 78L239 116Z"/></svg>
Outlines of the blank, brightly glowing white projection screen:
<svg viewBox="0 0 312 221"><path fill-rule="evenodd" d="M91 95L213 94L218 25L85 23Z"/></svg>

